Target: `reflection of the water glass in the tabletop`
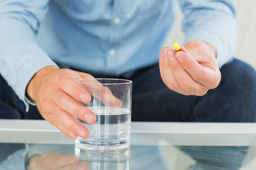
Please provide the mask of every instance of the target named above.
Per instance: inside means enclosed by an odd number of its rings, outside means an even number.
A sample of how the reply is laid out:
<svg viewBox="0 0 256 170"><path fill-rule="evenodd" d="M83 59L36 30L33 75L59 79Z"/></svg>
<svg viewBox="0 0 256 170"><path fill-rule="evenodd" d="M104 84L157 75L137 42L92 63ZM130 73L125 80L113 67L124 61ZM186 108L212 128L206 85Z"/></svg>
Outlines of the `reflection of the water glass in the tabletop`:
<svg viewBox="0 0 256 170"><path fill-rule="evenodd" d="M80 161L89 164L91 170L130 170L130 147L122 150L85 150L75 148Z"/></svg>

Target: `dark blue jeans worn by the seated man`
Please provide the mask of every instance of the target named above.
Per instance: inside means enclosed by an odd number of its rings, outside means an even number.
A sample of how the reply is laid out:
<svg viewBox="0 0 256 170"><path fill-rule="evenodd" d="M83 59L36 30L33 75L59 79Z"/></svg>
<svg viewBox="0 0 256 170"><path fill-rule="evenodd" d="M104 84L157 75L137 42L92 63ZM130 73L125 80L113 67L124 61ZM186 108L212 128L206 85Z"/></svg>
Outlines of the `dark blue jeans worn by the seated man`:
<svg viewBox="0 0 256 170"><path fill-rule="evenodd" d="M254 69L234 59L221 68L221 77L218 87L206 95L184 96L164 85L158 65L140 69L130 78L133 81L132 121L256 122ZM0 118L42 119L35 106L30 105L26 113L25 105L3 77L0 77L0 86Z"/></svg>

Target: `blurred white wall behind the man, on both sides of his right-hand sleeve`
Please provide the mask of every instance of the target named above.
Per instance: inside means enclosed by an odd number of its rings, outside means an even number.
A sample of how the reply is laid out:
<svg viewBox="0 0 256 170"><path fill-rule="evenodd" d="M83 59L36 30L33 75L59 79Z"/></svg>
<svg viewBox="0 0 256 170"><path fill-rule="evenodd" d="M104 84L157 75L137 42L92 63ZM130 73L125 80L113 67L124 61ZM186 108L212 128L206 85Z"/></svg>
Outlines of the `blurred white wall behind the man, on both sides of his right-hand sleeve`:
<svg viewBox="0 0 256 170"><path fill-rule="evenodd" d="M256 0L236 0L238 39L234 56L249 63L256 69ZM183 42L184 34L181 31L183 14L178 11L174 28L167 45L172 47L173 42Z"/></svg>

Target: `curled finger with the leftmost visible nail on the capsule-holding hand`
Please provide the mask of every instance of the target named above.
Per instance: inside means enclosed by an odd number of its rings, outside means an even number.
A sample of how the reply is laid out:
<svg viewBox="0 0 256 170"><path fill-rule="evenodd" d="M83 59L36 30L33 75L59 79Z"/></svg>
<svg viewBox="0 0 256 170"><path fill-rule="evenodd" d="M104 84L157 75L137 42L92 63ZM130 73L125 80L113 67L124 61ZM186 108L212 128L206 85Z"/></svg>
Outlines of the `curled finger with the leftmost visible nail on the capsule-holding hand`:
<svg viewBox="0 0 256 170"><path fill-rule="evenodd" d="M204 95L207 92L207 88L204 85L195 82L192 77L190 77L190 75L182 68L175 57L175 51L168 50L166 54L169 59L169 67L171 68L172 73L180 87L190 94L198 96Z"/></svg>

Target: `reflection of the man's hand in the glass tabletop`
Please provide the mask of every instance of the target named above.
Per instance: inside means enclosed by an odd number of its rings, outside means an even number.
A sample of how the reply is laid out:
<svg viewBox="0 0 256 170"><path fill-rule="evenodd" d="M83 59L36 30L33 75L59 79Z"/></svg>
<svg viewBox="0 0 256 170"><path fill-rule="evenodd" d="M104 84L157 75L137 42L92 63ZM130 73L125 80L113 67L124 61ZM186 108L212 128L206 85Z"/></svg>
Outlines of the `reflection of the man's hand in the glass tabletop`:
<svg viewBox="0 0 256 170"><path fill-rule="evenodd" d="M30 157L28 170L89 170L89 165L78 162L75 155L62 156L59 152L47 152Z"/></svg>

